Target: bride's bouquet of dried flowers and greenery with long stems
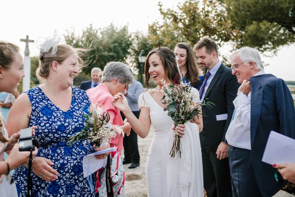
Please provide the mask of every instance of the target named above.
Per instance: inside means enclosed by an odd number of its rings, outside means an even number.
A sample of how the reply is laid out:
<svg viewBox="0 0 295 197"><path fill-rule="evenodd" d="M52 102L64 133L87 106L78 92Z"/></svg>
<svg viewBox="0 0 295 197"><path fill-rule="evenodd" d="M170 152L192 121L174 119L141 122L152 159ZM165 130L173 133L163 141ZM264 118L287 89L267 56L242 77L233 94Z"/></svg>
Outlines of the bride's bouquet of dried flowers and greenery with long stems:
<svg viewBox="0 0 295 197"><path fill-rule="evenodd" d="M200 102L199 92L196 88L191 87L190 82L168 84L162 79L161 83L163 84L162 90L165 92L161 102L167 107L164 111L168 111L168 116L171 116L175 126L177 124L184 124L187 121L194 121L195 116L202 114L199 109L201 104L196 104ZM210 105L208 103L205 104ZM177 157L179 156L181 158L180 136L176 130L174 133L170 156L176 157L177 155Z"/></svg>

